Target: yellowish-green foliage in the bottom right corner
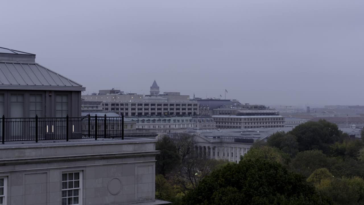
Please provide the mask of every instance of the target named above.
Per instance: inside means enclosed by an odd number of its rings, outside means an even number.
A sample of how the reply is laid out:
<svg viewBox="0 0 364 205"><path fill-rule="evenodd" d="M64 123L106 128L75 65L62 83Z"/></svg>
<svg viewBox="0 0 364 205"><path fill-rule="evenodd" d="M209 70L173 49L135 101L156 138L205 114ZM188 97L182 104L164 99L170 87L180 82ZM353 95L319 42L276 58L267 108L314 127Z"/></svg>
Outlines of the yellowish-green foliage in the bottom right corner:
<svg viewBox="0 0 364 205"><path fill-rule="evenodd" d="M322 179L316 189L337 205L364 204L364 180L360 177Z"/></svg>

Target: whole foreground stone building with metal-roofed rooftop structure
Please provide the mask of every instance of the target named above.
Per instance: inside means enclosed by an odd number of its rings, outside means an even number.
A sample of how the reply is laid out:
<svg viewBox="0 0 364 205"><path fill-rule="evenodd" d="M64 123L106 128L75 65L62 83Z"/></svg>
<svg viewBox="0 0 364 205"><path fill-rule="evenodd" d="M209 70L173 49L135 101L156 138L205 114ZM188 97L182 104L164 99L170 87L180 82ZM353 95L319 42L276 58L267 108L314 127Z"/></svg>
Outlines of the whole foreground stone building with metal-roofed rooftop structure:
<svg viewBox="0 0 364 205"><path fill-rule="evenodd" d="M155 200L156 140L88 136L84 88L35 54L0 48L0 73L0 204L169 203Z"/></svg>

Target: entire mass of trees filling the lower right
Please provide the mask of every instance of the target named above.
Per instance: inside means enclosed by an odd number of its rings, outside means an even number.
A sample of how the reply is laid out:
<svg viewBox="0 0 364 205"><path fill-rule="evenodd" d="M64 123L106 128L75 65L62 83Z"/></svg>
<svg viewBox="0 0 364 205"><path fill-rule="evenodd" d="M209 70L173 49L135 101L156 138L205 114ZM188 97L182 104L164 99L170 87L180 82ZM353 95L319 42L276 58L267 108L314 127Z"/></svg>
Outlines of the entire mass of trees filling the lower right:
<svg viewBox="0 0 364 205"><path fill-rule="evenodd" d="M239 163L199 158L191 135L162 138L156 198L173 204L364 204L364 131L325 120L276 132ZM190 148L189 148L190 147ZM158 180L157 180L158 179Z"/></svg>

